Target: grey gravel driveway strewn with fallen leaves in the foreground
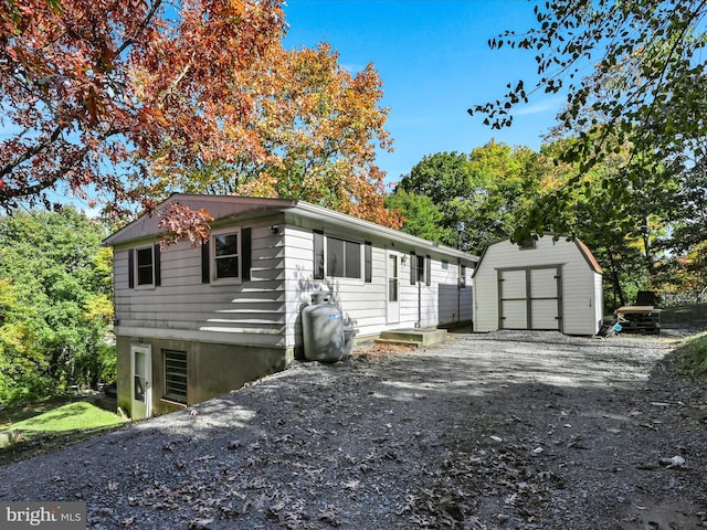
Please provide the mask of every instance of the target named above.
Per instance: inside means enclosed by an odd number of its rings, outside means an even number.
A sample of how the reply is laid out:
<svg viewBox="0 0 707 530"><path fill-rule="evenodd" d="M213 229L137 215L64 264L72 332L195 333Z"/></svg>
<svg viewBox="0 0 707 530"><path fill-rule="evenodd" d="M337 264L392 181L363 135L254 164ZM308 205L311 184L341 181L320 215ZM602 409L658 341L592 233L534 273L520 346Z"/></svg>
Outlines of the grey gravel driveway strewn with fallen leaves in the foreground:
<svg viewBox="0 0 707 530"><path fill-rule="evenodd" d="M92 529L707 527L707 402L669 337L455 333L296 362L0 467L0 500Z"/></svg>

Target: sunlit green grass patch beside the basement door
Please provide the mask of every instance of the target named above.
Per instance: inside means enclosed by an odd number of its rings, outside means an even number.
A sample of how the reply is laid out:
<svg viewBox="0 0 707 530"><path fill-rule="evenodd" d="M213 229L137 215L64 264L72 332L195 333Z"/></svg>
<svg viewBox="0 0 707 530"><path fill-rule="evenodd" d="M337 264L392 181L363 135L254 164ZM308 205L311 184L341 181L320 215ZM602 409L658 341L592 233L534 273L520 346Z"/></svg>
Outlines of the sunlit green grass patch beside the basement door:
<svg viewBox="0 0 707 530"><path fill-rule="evenodd" d="M0 431L0 465L48 453L97 434L120 428L125 421L87 400L41 403L31 415L28 407L4 411Z"/></svg>

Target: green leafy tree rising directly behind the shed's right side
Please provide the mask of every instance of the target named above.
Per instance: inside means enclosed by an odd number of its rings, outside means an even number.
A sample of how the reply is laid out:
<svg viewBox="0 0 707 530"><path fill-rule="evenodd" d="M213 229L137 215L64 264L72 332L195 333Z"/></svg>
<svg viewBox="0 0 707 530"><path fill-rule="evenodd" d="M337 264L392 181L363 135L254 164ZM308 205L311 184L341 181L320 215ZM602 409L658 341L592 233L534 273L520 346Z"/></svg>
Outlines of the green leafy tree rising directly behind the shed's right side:
<svg viewBox="0 0 707 530"><path fill-rule="evenodd" d="M637 290L656 285L655 264L662 258L661 241L676 216L679 187L651 165L636 170L626 187L612 183L621 178L633 146L605 153L600 163L582 173L577 186L567 186L578 173L578 163L559 162L562 152L577 139L558 140L542 148L556 160L551 181L530 208L529 225L542 225L553 232L580 237L593 251L604 268L605 300L613 307L635 299ZM519 232L524 233L527 227Z"/></svg>

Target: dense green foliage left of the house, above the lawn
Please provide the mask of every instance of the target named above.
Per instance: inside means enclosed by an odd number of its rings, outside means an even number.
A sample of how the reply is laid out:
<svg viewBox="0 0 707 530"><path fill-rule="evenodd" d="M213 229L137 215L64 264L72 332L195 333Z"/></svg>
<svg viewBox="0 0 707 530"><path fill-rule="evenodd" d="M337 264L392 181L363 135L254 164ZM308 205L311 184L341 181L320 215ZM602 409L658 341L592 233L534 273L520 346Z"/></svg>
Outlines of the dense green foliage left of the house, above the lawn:
<svg viewBox="0 0 707 530"><path fill-rule="evenodd" d="M115 353L110 251L73 208L0 219L0 391L31 399L96 386Z"/></svg>

